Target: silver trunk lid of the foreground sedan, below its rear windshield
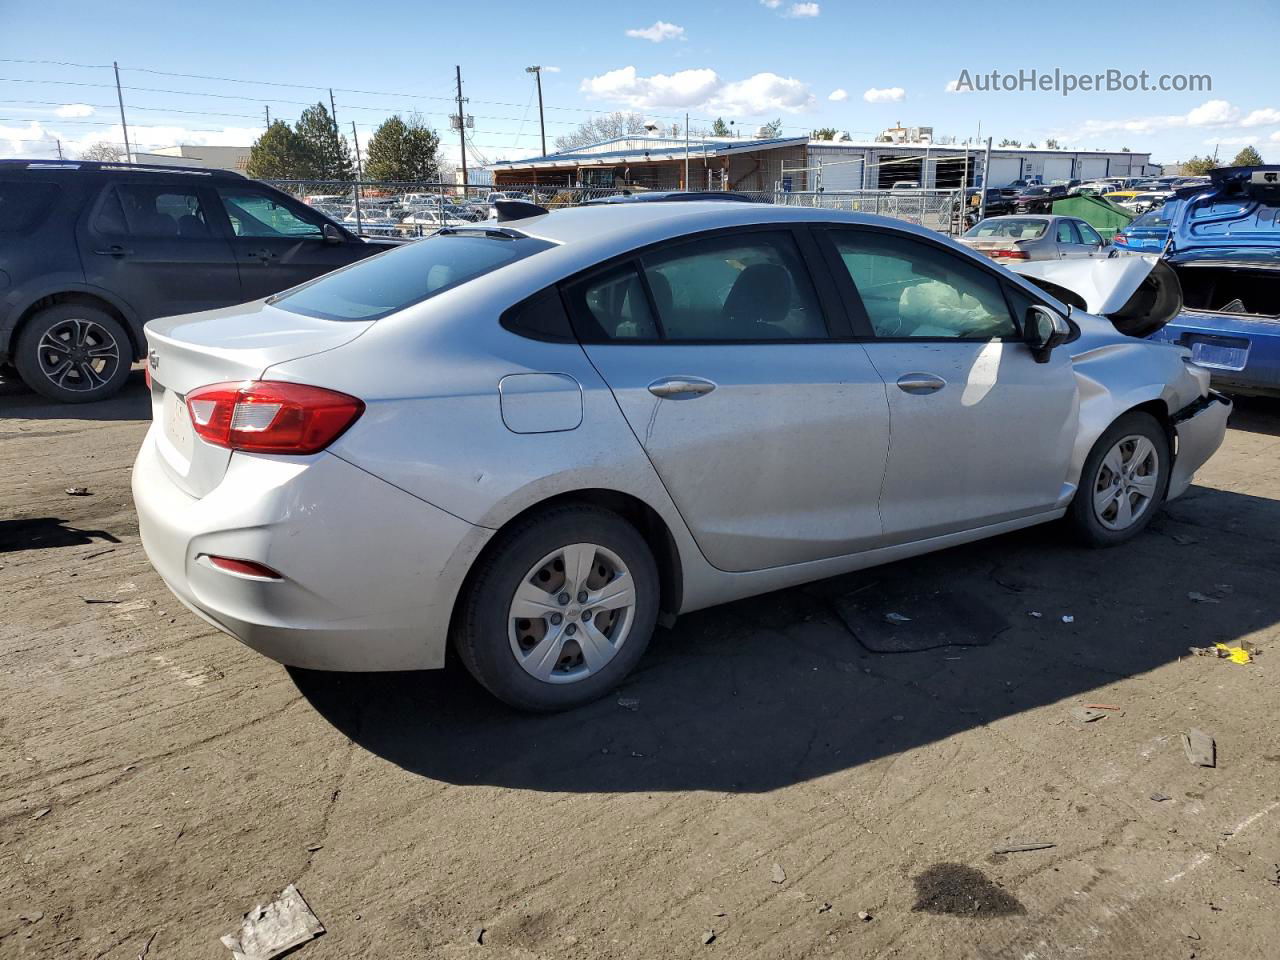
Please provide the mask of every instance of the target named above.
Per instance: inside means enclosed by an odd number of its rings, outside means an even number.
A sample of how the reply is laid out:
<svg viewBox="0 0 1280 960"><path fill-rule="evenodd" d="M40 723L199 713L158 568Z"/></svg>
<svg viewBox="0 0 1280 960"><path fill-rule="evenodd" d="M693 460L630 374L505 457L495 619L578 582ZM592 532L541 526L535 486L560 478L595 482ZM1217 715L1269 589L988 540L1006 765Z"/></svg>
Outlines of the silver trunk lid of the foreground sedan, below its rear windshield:
<svg viewBox="0 0 1280 960"><path fill-rule="evenodd" d="M375 321L320 320L265 301L146 325L155 443L169 477L192 497L221 481L232 452L196 436L186 396L212 383L256 380L274 364L349 343Z"/></svg>

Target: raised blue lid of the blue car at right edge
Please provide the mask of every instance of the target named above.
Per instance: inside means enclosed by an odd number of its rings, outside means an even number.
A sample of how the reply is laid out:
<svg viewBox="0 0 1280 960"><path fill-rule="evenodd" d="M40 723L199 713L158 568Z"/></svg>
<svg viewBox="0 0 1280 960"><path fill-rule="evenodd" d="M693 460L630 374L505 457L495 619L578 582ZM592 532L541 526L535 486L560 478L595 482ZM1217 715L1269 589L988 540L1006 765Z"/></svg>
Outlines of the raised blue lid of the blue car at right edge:
<svg viewBox="0 0 1280 960"><path fill-rule="evenodd" d="M1280 266L1280 166L1226 166L1210 184L1178 191L1172 262L1263 262Z"/></svg>

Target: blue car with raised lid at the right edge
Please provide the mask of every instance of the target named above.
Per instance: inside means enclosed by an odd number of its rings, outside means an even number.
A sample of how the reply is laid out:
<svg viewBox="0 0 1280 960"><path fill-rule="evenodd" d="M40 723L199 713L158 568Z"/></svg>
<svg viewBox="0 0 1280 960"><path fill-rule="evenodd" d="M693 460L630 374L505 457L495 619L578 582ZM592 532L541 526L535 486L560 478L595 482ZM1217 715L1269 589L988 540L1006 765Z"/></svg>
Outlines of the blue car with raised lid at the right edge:
<svg viewBox="0 0 1280 960"><path fill-rule="evenodd" d="M1280 397L1280 166L1213 170L1169 230L1183 310L1152 339L1188 347L1219 389Z"/></svg>

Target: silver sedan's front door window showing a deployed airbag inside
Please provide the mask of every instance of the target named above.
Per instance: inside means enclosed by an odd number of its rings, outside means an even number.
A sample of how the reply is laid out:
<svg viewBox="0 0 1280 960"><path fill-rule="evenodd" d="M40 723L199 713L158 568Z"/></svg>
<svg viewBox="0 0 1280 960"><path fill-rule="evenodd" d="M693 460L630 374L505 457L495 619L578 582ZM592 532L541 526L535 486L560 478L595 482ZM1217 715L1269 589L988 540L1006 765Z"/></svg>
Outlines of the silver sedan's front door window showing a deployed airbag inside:
<svg viewBox="0 0 1280 960"><path fill-rule="evenodd" d="M877 337L1018 335L1000 282L955 253L887 233L833 232L832 239Z"/></svg>

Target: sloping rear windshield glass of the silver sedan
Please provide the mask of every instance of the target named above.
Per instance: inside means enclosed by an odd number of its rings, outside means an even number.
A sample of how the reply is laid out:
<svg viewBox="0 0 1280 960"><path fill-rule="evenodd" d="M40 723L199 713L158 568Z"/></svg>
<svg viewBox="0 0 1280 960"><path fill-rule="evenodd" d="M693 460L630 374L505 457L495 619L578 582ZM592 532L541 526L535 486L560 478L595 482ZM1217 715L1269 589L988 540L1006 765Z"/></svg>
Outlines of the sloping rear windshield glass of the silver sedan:
<svg viewBox="0 0 1280 960"><path fill-rule="evenodd" d="M321 320L378 320L550 246L534 237L440 233L285 291L270 302Z"/></svg>

